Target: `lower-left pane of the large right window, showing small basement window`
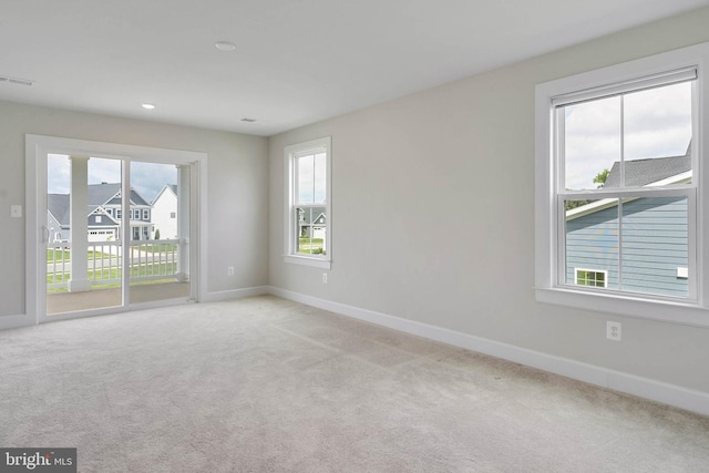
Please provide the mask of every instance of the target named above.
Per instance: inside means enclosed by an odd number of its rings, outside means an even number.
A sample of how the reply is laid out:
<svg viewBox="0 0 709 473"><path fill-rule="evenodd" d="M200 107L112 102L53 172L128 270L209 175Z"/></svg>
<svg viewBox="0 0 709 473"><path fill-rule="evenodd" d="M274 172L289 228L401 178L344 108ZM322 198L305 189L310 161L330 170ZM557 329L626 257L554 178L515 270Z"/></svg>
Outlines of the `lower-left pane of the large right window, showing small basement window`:
<svg viewBox="0 0 709 473"><path fill-rule="evenodd" d="M565 200L564 204L566 284L617 289L618 199ZM584 270L577 273L577 269Z"/></svg>

